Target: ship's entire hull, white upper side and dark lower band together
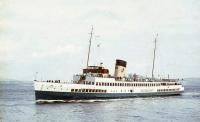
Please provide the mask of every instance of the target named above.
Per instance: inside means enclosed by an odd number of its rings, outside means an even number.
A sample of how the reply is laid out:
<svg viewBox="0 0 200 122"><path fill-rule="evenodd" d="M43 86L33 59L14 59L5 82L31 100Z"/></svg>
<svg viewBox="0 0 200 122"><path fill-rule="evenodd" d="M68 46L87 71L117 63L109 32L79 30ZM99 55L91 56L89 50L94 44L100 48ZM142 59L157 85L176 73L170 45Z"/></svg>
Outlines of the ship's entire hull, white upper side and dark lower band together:
<svg viewBox="0 0 200 122"><path fill-rule="evenodd" d="M113 82L114 83L114 82ZM45 99L96 99L179 95L184 91L182 85L156 85L159 82L118 82L131 86L97 86L85 84L34 82L36 100ZM134 86L148 84L149 86ZM132 86L133 85L133 86ZM155 85L155 86L154 86ZM42 95L43 94L43 95ZM59 97L59 96L63 97ZM46 97L45 97L46 96Z"/></svg>

